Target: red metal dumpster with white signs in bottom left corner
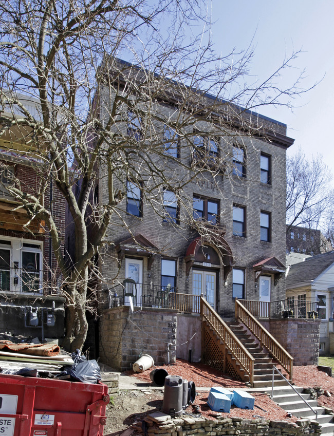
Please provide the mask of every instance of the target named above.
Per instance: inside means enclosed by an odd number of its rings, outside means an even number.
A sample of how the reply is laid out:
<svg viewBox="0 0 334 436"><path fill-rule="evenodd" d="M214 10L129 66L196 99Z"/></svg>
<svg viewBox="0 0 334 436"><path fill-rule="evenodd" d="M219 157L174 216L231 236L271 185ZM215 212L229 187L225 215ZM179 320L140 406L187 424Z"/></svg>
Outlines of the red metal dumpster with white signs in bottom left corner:
<svg viewBox="0 0 334 436"><path fill-rule="evenodd" d="M107 392L102 383L0 374L0 434L102 436Z"/></svg>

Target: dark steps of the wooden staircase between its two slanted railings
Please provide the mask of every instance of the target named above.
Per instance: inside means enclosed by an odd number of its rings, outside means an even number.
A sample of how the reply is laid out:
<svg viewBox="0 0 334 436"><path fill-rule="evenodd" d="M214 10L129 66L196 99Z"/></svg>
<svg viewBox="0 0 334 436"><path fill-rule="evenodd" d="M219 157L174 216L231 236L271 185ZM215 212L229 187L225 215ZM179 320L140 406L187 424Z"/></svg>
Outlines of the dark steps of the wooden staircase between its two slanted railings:
<svg viewBox="0 0 334 436"><path fill-rule="evenodd" d="M255 336L238 321L225 321L228 327L243 346L254 357L253 387L268 387L272 385L272 367L276 362L270 357L268 350L261 347ZM279 374L274 375L274 386L285 385L286 382L280 378Z"/></svg>

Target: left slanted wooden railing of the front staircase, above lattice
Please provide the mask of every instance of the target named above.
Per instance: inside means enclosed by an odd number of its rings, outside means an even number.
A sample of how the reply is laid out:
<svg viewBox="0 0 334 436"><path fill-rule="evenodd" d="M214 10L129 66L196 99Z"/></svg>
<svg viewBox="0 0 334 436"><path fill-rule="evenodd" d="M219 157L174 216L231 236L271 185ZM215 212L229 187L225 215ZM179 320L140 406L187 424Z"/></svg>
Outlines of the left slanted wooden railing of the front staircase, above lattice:
<svg viewBox="0 0 334 436"><path fill-rule="evenodd" d="M254 357L247 351L232 330L224 323L220 316L212 309L207 300L200 298L200 314L206 320L222 342L224 355L224 372L226 372L227 352L230 351L236 362L249 377L249 382L254 382ZM203 337L203 336L202 336ZM243 374L239 373L243 379Z"/></svg>

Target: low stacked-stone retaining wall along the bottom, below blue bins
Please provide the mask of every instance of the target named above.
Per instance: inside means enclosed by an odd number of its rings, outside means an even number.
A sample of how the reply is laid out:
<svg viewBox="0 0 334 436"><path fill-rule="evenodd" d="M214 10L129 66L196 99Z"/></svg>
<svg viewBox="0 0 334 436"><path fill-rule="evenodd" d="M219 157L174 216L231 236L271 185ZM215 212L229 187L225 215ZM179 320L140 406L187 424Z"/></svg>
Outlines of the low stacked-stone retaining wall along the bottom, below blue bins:
<svg viewBox="0 0 334 436"><path fill-rule="evenodd" d="M143 426L141 425L143 424ZM143 423L137 425L137 430L144 430L150 436L281 436L306 434L321 434L321 427L316 421L299 420L296 423L286 421L271 421L265 419L248 420L243 418L224 418L218 416L215 420L205 418L191 418L180 416L171 419L171 416L161 412L147 415Z"/></svg>

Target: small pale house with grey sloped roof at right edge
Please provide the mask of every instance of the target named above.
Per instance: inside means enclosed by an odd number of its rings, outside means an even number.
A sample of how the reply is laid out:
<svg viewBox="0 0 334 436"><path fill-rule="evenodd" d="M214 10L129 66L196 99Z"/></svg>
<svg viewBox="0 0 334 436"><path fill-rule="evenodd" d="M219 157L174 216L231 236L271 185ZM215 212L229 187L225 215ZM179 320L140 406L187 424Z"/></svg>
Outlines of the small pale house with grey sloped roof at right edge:
<svg viewBox="0 0 334 436"><path fill-rule="evenodd" d="M307 301L317 302L320 325L320 354L333 352L329 337L333 332L334 314L334 251L305 258L291 264L286 278L286 298L298 314L311 318Z"/></svg>

